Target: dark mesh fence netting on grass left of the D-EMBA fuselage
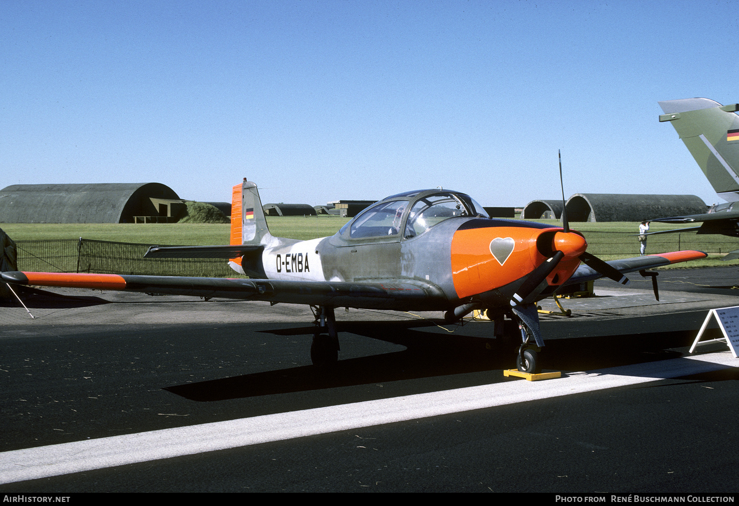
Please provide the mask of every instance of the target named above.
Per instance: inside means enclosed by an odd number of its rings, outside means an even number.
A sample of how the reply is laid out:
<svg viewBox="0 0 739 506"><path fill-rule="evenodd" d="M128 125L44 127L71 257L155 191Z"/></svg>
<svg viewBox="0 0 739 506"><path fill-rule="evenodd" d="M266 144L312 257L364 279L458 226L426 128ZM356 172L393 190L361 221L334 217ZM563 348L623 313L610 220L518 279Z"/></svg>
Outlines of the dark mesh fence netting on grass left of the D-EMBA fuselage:
<svg viewBox="0 0 739 506"><path fill-rule="evenodd" d="M18 270L205 278L236 276L224 259L145 259L143 255L149 246L96 239L16 241Z"/></svg>

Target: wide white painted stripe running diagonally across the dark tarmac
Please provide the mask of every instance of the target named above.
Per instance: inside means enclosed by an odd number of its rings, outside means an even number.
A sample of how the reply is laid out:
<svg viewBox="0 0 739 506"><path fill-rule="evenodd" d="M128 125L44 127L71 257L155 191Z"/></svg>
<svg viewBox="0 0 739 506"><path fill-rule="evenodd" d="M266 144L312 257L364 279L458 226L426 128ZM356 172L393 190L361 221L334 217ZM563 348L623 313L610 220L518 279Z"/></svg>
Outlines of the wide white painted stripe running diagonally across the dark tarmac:
<svg viewBox="0 0 739 506"><path fill-rule="evenodd" d="M290 440L505 404L635 385L739 366L730 352L571 373L557 380L491 385L369 400L261 417L167 428L0 453L0 483L110 468L206 451Z"/></svg>

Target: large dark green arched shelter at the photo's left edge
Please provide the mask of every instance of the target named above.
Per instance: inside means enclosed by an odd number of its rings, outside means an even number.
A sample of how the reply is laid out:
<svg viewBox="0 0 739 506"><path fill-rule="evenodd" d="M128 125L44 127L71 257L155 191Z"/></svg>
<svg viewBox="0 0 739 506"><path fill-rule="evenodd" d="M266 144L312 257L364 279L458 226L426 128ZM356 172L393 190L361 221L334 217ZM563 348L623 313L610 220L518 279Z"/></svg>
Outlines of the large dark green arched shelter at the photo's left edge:
<svg viewBox="0 0 739 506"><path fill-rule="evenodd" d="M166 222L176 221L186 207L159 182L10 185L0 190L0 223Z"/></svg>

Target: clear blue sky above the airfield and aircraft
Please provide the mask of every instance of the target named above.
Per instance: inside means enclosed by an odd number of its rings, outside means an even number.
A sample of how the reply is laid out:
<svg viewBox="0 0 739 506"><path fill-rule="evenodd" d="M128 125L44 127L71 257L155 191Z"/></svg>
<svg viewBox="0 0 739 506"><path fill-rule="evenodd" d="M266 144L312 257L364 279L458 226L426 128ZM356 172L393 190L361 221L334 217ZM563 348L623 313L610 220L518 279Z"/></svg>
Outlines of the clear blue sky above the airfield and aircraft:
<svg viewBox="0 0 739 506"><path fill-rule="evenodd" d="M658 100L739 102L736 1L0 3L0 188L719 202Z"/></svg>

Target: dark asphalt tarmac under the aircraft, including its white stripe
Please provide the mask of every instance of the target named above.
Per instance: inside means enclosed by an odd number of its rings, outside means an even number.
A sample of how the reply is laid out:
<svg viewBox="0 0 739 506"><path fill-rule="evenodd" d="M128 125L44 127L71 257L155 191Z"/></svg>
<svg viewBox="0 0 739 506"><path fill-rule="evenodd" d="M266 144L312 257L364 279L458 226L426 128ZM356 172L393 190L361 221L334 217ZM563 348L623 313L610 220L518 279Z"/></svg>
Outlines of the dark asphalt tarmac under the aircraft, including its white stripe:
<svg viewBox="0 0 739 506"><path fill-rule="evenodd" d="M539 382L437 312L337 310L324 371L307 307L26 293L33 319L0 305L0 491L735 493L739 361L687 346L739 269L661 271L659 303L635 274L542 315Z"/></svg>

